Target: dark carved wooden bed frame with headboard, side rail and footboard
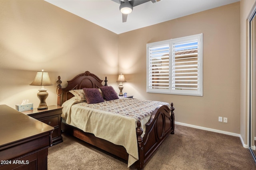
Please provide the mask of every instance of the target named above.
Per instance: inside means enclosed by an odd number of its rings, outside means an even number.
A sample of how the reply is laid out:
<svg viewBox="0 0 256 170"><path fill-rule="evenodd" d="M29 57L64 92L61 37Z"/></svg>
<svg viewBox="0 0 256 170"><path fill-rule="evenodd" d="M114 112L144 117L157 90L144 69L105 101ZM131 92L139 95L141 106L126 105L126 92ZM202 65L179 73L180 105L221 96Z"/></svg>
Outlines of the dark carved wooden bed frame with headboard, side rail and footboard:
<svg viewBox="0 0 256 170"><path fill-rule="evenodd" d="M57 80L57 105L61 106L63 102L73 97L73 94L69 90L82 89L82 88L99 88L102 85L102 81L95 74L86 71L82 74L78 74L72 80L67 81L66 88L62 88L60 85L62 81L60 76ZM107 86L107 77L105 77L105 84ZM144 137L141 135L143 129L141 128L140 121L137 122L136 130L137 142L138 142L138 154L139 160L135 162L136 169L142 170L145 162L150 158L154 151L160 146L160 144L168 137L169 134L174 134L174 107L171 103L171 108L167 106L158 106L151 115L150 120L146 123L146 132ZM171 114L170 114L171 113ZM92 133L86 133L76 127L68 125L62 122L62 130L70 133L74 137L81 139L91 145L94 145L102 150L105 150L111 154L114 154L124 160L128 160L128 153L123 146L115 145L104 139L95 137Z"/></svg>

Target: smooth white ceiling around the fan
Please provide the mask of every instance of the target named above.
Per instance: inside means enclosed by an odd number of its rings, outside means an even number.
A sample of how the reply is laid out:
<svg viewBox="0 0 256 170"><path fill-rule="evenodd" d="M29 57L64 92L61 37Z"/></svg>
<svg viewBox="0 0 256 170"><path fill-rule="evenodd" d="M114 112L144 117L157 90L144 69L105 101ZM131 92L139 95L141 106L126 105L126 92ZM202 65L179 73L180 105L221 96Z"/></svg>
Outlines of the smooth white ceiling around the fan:
<svg viewBox="0 0 256 170"><path fill-rule="evenodd" d="M116 34L187 16L240 0L161 0L140 4L122 22L120 4L112 0L45 0Z"/></svg>

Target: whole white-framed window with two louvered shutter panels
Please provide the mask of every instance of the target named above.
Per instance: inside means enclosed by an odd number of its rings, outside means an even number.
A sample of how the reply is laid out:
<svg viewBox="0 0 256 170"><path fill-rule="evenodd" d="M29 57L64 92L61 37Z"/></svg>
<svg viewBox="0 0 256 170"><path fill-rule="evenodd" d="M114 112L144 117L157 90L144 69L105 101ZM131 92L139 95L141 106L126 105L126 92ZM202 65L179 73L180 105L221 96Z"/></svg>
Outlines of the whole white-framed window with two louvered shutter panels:
<svg viewBox="0 0 256 170"><path fill-rule="evenodd" d="M147 44L147 92L202 96L202 33Z"/></svg>

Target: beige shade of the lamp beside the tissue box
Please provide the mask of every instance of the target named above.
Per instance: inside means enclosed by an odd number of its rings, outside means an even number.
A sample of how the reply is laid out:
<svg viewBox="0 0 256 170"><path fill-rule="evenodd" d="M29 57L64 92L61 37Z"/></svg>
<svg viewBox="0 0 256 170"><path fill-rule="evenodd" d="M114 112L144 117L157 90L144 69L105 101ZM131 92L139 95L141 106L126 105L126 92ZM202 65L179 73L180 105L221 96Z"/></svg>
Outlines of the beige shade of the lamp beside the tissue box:
<svg viewBox="0 0 256 170"><path fill-rule="evenodd" d="M38 71L36 73L36 78L34 81L30 84L30 86L51 86L52 82L49 78L48 72Z"/></svg>

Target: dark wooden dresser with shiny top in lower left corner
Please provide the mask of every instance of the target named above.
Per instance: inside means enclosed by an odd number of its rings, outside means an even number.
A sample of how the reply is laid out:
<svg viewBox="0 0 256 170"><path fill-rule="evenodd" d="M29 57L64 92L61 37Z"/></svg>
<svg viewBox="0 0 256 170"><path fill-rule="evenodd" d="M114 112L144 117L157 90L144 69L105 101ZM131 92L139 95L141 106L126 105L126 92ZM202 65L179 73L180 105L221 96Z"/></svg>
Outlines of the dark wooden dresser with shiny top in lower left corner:
<svg viewBox="0 0 256 170"><path fill-rule="evenodd" d="M53 127L0 105L0 170L47 170Z"/></svg>

